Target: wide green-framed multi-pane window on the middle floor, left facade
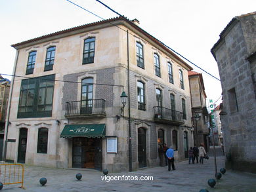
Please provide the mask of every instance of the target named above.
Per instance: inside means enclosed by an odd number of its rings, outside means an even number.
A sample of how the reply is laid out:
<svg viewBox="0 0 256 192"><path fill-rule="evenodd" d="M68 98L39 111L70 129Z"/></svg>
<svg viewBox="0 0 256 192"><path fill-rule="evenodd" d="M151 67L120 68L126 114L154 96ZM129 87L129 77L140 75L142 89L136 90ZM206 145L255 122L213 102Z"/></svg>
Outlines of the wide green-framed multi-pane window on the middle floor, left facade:
<svg viewBox="0 0 256 192"><path fill-rule="evenodd" d="M51 117L55 75L23 79L18 118Z"/></svg>

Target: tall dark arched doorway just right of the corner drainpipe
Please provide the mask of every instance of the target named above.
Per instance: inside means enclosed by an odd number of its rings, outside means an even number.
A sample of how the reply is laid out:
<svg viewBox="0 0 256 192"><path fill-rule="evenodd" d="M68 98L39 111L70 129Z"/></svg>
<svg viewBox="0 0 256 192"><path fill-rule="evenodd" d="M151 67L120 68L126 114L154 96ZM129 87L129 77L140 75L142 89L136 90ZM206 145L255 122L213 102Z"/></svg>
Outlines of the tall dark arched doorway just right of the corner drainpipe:
<svg viewBox="0 0 256 192"><path fill-rule="evenodd" d="M146 130L138 129L138 160L139 168L146 166Z"/></svg>

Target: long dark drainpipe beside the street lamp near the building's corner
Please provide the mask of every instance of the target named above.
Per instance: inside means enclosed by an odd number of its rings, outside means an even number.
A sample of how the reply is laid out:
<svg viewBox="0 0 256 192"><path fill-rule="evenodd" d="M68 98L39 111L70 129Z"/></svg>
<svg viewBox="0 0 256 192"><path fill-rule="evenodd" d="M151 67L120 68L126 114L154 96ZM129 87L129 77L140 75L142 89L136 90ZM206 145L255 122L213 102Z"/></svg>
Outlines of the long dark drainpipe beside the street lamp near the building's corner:
<svg viewBox="0 0 256 192"><path fill-rule="evenodd" d="M133 171L132 157L131 157L131 96L130 96L130 62L129 62L129 33L127 32L127 68L128 68L128 122L129 122L129 171Z"/></svg>

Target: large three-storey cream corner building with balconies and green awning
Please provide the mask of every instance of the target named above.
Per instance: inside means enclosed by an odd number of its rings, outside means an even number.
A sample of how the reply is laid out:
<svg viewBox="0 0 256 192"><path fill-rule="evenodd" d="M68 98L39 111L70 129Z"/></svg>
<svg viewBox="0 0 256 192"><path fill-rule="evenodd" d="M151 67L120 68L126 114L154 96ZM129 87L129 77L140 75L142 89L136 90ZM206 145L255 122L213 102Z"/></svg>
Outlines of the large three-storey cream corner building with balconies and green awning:
<svg viewBox="0 0 256 192"><path fill-rule="evenodd" d="M159 166L164 143L176 159L187 156L192 67L134 22L112 18L12 45L6 161L121 172Z"/></svg>

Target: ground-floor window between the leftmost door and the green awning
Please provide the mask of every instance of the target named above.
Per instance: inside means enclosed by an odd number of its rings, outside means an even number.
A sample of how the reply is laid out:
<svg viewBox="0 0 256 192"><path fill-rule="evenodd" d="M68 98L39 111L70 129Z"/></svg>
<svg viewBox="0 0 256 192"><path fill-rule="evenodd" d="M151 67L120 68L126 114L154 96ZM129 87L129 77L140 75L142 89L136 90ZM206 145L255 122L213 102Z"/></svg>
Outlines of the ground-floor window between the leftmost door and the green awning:
<svg viewBox="0 0 256 192"><path fill-rule="evenodd" d="M37 153L47 153L48 128L38 129Z"/></svg>

